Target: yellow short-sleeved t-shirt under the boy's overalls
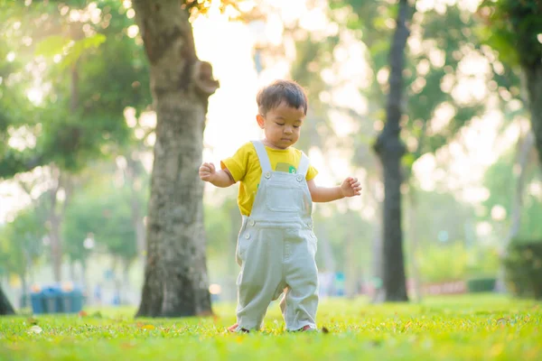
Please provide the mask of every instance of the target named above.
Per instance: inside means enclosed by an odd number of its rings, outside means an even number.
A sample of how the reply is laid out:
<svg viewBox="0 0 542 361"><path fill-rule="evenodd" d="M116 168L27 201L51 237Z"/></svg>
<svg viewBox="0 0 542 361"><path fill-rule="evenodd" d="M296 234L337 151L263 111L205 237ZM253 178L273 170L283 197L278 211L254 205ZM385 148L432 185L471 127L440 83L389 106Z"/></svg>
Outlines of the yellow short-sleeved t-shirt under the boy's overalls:
<svg viewBox="0 0 542 361"><path fill-rule="evenodd" d="M275 171L297 172L301 162L302 152L293 147L288 149L273 149L266 147L271 168ZM256 197L257 186L262 176L262 168L257 158L256 148L252 142L243 144L231 157L220 162L222 169L227 168L233 180L240 181L238 193L238 206L242 215L249 216ZM318 171L309 165L306 180L316 177Z"/></svg>

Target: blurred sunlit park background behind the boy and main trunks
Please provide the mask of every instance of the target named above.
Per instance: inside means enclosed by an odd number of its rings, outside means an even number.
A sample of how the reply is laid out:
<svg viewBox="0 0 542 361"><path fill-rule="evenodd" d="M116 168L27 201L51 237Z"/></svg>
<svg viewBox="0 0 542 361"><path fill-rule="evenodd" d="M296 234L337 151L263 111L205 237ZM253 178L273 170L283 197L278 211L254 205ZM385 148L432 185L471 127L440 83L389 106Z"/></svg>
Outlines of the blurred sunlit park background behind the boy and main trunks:
<svg viewBox="0 0 542 361"><path fill-rule="evenodd" d="M310 106L298 146L317 183L353 175L363 185L359 198L314 207L320 293L374 297L384 188L372 145L386 120L397 2L200 3L196 51L220 80L204 161L261 136L258 88L299 82ZM496 282L502 256L542 240L525 78L480 0L413 10L400 122L408 293L512 292ZM140 301L156 117L134 17L129 0L0 0L0 284L16 309L53 283L88 305ZM236 298L237 191L205 188L213 301Z"/></svg>

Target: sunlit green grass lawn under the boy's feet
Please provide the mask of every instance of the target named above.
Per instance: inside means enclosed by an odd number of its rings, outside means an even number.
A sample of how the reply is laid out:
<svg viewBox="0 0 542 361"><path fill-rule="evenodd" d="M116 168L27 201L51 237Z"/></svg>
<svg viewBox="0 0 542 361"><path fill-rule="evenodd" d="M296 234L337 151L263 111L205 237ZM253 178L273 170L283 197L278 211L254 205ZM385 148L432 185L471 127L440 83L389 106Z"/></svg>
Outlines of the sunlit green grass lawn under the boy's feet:
<svg viewBox="0 0 542 361"><path fill-rule="evenodd" d="M542 308L503 296L421 304L324 300L327 332L288 333L273 304L263 331L229 334L235 305L215 317L134 319L134 309L89 316L0 318L0 360L542 360Z"/></svg>

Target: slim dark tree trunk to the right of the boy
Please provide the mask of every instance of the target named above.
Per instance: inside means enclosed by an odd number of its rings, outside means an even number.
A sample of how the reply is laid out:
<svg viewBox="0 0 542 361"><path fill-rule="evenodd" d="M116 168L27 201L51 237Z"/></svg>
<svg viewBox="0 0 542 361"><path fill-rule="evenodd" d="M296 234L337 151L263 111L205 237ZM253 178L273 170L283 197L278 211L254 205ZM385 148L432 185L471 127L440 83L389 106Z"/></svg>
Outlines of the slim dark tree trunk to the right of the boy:
<svg viewBox="0 0 542 361"><path fill-rule="evenodd" d="M399 121L402 113L402 72L405 65L406 39L409 34L406 18L409 12L407 0L400 0L396 31L389 52L386 125L374 144L375 152L384 168L383 301L408 301L401 228L401 184L403 182L401 158L405 154L405 145L399 138L401 130Z"/></svg>

